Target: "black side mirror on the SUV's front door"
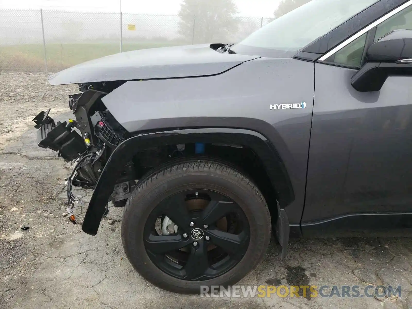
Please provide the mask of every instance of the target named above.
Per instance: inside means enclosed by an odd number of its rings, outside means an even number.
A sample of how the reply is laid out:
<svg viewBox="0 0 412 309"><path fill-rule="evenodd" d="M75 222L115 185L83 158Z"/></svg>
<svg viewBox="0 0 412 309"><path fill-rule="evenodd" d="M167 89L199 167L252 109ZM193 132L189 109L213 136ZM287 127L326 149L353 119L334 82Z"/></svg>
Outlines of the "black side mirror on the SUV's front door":
<svg viewBox="0 0 412 309"><path fill-rule="evenodd" d="M379 91L390 75L412 76L412 30L393 30L373 43L351 78L358 91Z"/></svg>

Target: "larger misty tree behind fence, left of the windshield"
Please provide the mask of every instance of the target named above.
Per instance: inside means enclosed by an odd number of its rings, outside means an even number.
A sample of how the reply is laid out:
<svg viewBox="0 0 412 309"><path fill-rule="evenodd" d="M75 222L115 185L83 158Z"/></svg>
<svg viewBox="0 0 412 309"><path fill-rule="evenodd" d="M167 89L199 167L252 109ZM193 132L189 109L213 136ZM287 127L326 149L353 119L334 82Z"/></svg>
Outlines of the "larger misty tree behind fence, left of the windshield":
<svg viewBox="0 0 412 309"><path fill-rule="evenodd" d="M226 42L239 30L232 0L184 0L179 11L179 34L193 43Z"/></svg>

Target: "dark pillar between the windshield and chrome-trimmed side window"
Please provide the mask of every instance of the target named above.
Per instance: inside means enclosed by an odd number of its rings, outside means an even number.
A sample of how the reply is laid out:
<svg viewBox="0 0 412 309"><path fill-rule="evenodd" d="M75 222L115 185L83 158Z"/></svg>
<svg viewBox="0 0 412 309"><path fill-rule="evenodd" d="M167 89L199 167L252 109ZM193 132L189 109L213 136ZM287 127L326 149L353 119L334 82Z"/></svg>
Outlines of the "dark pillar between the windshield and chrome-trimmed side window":
<svg viewBox="0 0 412 309"><path fill-rule="evenodd" d="M362 12L352 16L351 19L323 35L323 37L318 38L318 40L304 47L300 52L293 56L293 58L316 61L320 56L342 43L351 35L362 30L407 1L408 0L380 0Z"/></svg>

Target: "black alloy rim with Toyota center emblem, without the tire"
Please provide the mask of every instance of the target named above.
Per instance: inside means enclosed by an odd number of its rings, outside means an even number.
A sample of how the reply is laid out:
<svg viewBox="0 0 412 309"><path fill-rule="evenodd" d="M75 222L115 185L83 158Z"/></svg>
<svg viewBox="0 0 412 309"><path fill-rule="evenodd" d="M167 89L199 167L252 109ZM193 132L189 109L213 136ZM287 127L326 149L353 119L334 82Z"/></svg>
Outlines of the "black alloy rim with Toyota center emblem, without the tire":
<svg viewBox="0 0 412 309"><path fill-rule="evenodd" d="M156 228L157 219L165 216L177 232L162 235ZM155 207L145 225L144 243L159 269L178 279L201 281L234 267L246 253L249 236L246 215L234 201L218 192L186 190Z"/></svg>

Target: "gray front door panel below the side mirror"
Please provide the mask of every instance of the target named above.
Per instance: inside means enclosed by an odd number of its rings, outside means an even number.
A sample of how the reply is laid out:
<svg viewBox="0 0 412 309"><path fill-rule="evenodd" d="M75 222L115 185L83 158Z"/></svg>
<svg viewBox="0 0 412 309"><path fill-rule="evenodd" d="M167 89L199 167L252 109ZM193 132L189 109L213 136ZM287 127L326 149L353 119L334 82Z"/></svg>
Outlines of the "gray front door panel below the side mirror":
<svg viewBox="0 0 412 309"><path fill-rule="evenodd" d="M302 224L412 213L412 77L389 77L381 91L362 93L350 84L355 73L315 64Z"/></svg>

